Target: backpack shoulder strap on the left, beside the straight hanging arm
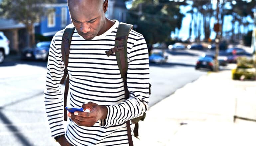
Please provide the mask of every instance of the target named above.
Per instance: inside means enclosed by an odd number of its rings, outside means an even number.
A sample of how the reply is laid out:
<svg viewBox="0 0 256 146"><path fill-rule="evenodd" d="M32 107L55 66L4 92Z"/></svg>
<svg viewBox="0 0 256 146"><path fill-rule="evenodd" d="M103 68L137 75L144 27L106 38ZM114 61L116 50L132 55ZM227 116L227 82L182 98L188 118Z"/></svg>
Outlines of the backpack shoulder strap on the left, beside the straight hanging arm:
<svg viewBox="0 0 256 146"><path fill-rule="evenodd" d="M68 57L70 53L69 47L70 47L74 30L75 30L75 27L73 24L69 24L68 26L66 26L64 33L62 35L62 42L61 42L61 54L62 54L62 60L65 64L65 69L64 69L64 75L61 79L60 84L64 84L64 81L66 80L65 92L64 92L64 120L65 121L67 121L67 111L65 107L67 105L67 94L69 89L69 75L68 75L67 66L68 66Z"/></svg>

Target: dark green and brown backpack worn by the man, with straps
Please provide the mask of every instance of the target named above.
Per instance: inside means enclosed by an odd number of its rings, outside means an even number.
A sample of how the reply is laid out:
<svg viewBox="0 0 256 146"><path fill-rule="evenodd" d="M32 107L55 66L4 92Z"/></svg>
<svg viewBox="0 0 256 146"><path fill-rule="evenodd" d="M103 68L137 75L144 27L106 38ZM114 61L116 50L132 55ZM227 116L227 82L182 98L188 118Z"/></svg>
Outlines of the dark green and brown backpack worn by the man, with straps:
<svg viewBox="0 0 256 146"><path fill-rule="evenodd" d="M124 81L124 89L125 89L125 98L126 99L129 98L129 91L128 91L127 82L126 82L126 75L127 75L127 69L128 69L127 39L128 39L129 32L132 28L133 28L133 26L130 24L124 24L124 23L119 24L119 27L118 27L118 30L116 33L116 38L115 38L115 47L110 49L109 51L105 52L107 56L110 56L110 54L113 54L113 53L115 53L115 55L116 55L118 68L120 70L121 76ZM69 57L69 53L70 53L69 47L70 47L70 43L72 40L72 35L74 33L74 30L75 30L75 27L73 24L69 24L68 26L66 26L63 36L62 36L62 43L61 43L61 54L62 54L62 60L64 61L64 64L65 64L65 69L64 69L64 75L60 81L60 84L64 84L64 81L67 78L66 83L65 83L65 92L64 92L64 120L65 121L67 121L67 111L66 111L65 107L66 107L66 100L67 100L67 94L68 94L68 89L69 89L69 75L68 75L67 66L68 66L68 57ZM151 87L151 84L149 84L149 94L151 94L150 87ZM140 120L143 121L145 116L146 116L146 113L144 113L140 117L132 119L132 123L135 124L133 133L136 138L138 138L138 136L139 136L138 122ZM131 127L130 127L129 120L126 121L126 126L127 126L127 131L128 131L129 145L133 146L132 136L131 136Z"/></svg>

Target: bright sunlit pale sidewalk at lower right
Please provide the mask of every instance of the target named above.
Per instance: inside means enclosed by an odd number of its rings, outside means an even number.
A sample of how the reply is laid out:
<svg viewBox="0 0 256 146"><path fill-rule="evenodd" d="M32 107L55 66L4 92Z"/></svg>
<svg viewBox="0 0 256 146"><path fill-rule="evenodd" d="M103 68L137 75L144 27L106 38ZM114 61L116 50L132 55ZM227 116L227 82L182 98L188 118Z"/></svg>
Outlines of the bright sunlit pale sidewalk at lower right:
<svg viewBox="0 0 256 146"><path fill-rule="evenodd" d="M256 81L234 81L231 70L209 73L152 106L134 145L255 146ZM151 97L154 98L154 97Z"/></svg>

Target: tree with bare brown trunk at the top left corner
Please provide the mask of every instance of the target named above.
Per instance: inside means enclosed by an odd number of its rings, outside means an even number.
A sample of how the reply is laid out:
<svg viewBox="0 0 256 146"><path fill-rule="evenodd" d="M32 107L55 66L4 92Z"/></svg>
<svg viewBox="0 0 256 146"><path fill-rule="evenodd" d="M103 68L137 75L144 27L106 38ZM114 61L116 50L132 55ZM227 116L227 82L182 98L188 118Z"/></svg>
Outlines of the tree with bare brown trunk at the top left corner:
<svg viewBox="0 0 256 146"><path fill-rule="evenodd" d="M55 0L2 0L0 15L21 22L26 25L29 34L29 46L35 45L34 23L47 12L44 11L45 3L53 3Z"/></svg>

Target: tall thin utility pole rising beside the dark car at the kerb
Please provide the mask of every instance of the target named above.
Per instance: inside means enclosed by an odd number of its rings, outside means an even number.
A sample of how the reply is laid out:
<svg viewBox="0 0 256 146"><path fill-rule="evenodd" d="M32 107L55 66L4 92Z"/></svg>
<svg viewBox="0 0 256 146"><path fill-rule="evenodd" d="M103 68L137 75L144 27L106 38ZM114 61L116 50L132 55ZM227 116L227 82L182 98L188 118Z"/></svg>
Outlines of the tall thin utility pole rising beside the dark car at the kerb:
<svg viewBox="0 0 256 146"><path fill-rule="evenodd" d="M219 24L219 0L217 0L217 23L214 24L214 31L216 32L216 53L215 53L215 72L219 71L219 61L218 61L218 55L219 55L219 42L220 42L220 36L219 36L219 31L220 31L220 24Z"/></svg>

